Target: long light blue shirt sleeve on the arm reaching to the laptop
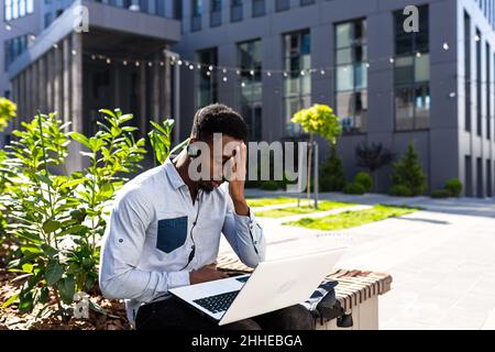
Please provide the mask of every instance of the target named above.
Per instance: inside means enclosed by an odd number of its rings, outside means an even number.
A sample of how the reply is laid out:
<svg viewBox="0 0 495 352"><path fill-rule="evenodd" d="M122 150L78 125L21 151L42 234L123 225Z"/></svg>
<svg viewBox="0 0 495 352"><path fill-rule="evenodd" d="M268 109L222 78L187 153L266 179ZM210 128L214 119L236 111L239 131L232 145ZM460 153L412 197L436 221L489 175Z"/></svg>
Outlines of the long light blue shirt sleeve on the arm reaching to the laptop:
<svg viewBox="0 0 495 352"><path fill-rule="evenodd" d="M116 200L107 224L100 260L100 289L110 299L152 301L169 288L189 285L189 273L138 268L153 219L152 202L139 188Z"/></svg>

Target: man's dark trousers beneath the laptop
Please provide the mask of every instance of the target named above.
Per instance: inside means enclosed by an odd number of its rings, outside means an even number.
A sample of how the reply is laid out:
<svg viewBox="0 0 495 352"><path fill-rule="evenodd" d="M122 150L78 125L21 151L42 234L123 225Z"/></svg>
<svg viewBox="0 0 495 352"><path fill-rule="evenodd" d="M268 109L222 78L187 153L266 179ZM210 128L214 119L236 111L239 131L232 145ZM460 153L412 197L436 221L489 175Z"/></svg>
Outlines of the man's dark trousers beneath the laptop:
<svg viewBox="0 0 495 352"><path fill-rule="evenodd" d="M315 319L297 305L251 319L219 327L176 298L142 306L135 320L138 330L314 330Z"/></svg>

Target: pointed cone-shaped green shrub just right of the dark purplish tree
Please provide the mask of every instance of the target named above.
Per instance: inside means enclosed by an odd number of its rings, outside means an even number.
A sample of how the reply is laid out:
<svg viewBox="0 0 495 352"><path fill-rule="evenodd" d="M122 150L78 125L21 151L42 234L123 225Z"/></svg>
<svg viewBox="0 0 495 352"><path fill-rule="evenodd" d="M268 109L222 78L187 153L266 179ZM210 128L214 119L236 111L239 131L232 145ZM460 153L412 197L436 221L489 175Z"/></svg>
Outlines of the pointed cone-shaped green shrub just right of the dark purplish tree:
<svg viewBox="0 0 495 352"><path fill-rule="evenodd" d="M427 188L426 175L418 162L415 144L409 143L406 153L394 164L393 185L403 185L410 190L410 196L422 195Z"/></svg>

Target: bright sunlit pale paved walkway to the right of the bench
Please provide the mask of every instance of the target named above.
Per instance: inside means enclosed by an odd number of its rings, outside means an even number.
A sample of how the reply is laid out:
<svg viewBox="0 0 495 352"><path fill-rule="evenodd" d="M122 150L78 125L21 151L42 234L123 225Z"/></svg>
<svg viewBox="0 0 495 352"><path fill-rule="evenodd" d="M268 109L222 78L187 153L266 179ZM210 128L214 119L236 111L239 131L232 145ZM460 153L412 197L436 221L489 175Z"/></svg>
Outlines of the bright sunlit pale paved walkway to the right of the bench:
<svg viewBox="0 0 495 352"><path fill-rule="evenodd" d="M495 328L494 200L341 194L321 198L409 205L424 210L338 233L282 227L279 221L261 219L268 257L344 243L349 250L339 267L387 272L394 277L392 292L381 298L382 329ZM222 242L221 252L229 251Z"/></svg>

